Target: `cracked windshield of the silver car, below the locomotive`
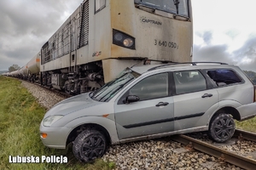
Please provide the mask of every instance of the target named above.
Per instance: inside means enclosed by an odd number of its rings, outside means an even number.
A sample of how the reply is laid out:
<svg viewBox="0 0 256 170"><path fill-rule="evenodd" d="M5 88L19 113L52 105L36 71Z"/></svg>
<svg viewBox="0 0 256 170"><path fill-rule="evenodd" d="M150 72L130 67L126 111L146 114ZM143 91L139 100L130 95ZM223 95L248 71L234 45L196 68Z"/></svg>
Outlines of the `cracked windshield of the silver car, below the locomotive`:
<svg viewBox="0 0 256 170"><path fill-rule="evenodd" d="M113 96L117 94L122 88L124 88L125 85L131 82L131 80L139 76L140 74L137 72L126 68L113 81L106 83L104 86L102 86L102 88L98 89L94 93L91 93L90 98L97 101L107 102L112 99Z"/></svg>

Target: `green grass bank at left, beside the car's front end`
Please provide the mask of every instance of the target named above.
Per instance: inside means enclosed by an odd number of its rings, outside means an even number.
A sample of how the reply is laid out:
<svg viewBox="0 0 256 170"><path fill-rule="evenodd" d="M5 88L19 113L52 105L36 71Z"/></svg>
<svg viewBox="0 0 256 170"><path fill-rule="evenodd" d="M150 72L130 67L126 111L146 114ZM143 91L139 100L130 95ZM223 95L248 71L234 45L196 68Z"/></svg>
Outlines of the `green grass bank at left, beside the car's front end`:
<svg viewBox="0 0 256 170"><path fill-rule="evenodd" d="M20 81L0 76L0 169L113 169L113 162L101 159L92 164L77 161L65 150L49 149L39 137L45 109ZM67 163L10 163L9 156L67 156Z"/></svg>

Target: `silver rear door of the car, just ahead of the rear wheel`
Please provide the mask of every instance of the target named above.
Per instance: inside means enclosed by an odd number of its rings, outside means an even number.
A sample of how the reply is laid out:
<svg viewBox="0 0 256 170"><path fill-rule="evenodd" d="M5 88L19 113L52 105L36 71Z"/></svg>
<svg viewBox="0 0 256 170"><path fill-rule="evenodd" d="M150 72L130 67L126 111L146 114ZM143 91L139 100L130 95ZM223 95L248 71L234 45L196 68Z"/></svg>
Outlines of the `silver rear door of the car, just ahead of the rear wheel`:
<svg viewBox="0 0 256 170"><path fill-rule="evenodd" d="M175 71L173 78L175 130L207 127L211 115L206 112L218 108L218 91L209 88L201 71Z"/></svg>

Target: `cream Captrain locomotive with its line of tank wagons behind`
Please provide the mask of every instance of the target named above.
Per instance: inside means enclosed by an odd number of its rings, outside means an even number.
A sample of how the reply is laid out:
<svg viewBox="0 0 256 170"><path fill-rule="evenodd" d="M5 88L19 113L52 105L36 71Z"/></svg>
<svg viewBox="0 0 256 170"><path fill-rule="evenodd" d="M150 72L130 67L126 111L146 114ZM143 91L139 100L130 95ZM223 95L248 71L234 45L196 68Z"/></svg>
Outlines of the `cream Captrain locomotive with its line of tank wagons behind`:
<svg viewBox="0 0 256 170"><path fill-rule="evenodd" d="M19 75L83 94L125 67L189 62L192 46L190 0L84 0Z"/></svg>

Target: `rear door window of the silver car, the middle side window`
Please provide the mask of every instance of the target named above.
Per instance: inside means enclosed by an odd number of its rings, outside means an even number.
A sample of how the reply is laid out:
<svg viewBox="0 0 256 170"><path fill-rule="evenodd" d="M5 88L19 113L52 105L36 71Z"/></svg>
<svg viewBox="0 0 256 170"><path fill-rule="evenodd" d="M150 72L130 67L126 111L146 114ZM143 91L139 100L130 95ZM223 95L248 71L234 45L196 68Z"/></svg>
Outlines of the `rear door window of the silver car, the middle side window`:
<svg viewBox="0 0 256 170"><path fill-rule="evenodd" d="M207 82L200 71L173 72L176 94L187 94L207 89Z"/></svg>

